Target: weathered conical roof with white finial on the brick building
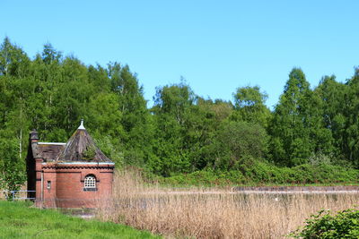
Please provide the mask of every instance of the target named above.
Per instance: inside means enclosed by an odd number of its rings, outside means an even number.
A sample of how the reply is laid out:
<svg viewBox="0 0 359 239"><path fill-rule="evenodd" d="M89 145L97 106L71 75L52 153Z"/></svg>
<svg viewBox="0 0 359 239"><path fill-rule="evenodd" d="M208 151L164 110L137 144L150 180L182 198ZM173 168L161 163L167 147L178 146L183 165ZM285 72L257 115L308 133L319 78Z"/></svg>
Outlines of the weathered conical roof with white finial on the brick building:
<svg viewBox="0 0 359 239"><path fill-rule="evenodd" d="M58 161L87 161L87 162L111 162L92 140L90 134L83 127L83 120L80 127L67 141L65 149L57 157Z"/></svg>

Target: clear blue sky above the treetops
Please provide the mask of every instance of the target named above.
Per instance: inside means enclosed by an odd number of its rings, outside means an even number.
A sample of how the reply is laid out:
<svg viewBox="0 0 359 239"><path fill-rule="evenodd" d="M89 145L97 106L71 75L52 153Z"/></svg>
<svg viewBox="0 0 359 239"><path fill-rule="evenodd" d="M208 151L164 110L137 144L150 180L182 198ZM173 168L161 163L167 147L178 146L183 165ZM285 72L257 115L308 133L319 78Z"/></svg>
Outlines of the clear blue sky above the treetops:
<svg viewBox="0 0 359 239"><path fill-rule="evenodd" d="M274 106L294 66L311 87L359 64L359 1L16 1L0 4L0 38L33 57L50 42L84 64L128 64L150 100L183 76L202 97L260 86Z"/></svg>

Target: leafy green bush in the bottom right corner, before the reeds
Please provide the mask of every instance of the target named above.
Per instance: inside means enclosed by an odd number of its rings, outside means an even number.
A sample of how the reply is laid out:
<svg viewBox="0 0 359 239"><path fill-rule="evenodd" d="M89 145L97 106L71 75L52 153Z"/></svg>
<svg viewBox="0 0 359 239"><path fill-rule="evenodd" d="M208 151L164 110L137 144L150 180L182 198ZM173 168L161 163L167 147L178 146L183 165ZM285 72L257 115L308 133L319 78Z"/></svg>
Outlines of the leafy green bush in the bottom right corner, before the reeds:
<svg viewBox="0 0 359 239"><path fill-rule="evenodd" d="M294 238L359 238L359 210L346 209L331 215L330 210L322 209L311 215L305 226L290 235Z"/></svg>

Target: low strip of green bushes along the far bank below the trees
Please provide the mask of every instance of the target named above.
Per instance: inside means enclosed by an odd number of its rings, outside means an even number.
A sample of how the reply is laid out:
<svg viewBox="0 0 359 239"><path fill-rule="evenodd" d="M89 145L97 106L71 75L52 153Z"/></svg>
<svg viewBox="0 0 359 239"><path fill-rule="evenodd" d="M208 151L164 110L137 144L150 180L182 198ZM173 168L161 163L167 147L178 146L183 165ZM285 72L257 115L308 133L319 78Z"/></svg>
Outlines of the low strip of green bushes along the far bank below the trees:
<svg viewBox="0 0 359 239"><path fill-rule="evenodd" d="M344 166L309 165L279 167L263 160L244 161L237 170L201 170L170 177L158 176L172 185L266 185L266 184L357 184L359 171Z"/></svg>

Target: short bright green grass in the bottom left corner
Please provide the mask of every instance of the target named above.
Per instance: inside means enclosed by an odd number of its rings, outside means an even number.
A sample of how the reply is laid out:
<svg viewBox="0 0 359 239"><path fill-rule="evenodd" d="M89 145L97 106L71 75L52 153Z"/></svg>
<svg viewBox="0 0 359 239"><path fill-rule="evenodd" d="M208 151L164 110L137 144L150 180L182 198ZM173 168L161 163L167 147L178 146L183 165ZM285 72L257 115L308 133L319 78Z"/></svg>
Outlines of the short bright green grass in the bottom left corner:
<svg viewBox="0 0 359 239"><path fill-rule="evenodd" d="M0 238L161 238L129 226L74 218L31 205L0 201Z"/></svg>

